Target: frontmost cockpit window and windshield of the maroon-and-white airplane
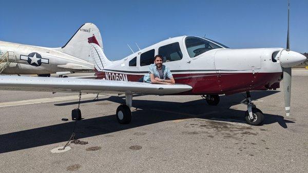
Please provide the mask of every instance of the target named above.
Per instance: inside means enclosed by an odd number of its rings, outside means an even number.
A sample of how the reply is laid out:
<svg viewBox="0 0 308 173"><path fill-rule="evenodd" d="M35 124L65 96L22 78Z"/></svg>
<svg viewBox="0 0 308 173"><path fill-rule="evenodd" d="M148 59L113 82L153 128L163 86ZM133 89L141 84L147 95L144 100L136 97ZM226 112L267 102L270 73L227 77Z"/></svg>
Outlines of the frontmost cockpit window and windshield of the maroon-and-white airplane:
<svg viewBox="0 0 308 173"><path fill-rule="evenodd" d="M194 36L186 37L185 45L190 57L196 57L212 49L223 48L215 43Z"/></svg>

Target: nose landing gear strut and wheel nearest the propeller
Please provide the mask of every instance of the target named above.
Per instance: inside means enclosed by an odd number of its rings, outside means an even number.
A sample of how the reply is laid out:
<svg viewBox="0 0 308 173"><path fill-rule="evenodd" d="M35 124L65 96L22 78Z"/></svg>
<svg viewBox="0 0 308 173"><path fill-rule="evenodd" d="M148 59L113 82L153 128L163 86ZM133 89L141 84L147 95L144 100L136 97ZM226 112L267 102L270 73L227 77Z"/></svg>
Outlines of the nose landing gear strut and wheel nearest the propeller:
<svg viewBox="0 0 308 173"><path fill-rule="evenodd" d="M264 120L263 112L256 107L252 102L251 94L246 92L247 98L241 103L247 105L247 111L245 112L245 120L250 125L260 125Z"/></svg>

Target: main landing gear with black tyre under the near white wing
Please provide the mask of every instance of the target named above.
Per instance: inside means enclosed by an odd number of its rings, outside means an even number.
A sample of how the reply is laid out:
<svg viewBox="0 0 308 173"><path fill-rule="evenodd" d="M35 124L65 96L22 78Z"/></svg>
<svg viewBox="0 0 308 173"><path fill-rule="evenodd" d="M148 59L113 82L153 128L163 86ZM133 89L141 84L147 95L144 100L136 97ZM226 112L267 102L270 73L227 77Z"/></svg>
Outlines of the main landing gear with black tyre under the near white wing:
<svg viewBox="0 0 308 173"><path fill-rule="evenodd" d="M117 120L120 124L128 124L131 120L131 111L130 107L132 105L132 94L125 93L125 104L121 104L117 108Z"/></svg>

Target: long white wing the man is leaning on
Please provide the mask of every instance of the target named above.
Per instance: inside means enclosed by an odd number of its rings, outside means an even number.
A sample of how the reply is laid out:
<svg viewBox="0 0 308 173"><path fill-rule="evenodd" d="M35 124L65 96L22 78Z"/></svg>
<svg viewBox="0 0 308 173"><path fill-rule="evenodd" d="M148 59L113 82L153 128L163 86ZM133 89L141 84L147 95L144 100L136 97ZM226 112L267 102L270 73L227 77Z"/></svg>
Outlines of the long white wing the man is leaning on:
<svg viewBox="0 0 308 173"><path fill-rule="evenodd" d="M180 84L0 75L0 90L164 95L188 91L191 88L189 85Z"/></svg>

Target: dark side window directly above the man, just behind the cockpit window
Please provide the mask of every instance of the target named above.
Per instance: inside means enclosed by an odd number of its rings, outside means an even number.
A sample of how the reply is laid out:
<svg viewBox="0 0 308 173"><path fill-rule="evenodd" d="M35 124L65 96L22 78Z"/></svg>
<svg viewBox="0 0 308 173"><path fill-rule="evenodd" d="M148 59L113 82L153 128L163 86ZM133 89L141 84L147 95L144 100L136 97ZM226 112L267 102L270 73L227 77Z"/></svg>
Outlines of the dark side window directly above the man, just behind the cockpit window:
<svg viewBox="0 0 308 173"><path fill-rule="evenodd" d="M183 57L179 42L160 47L158 54L163 56L164 62L182 60Z"/></svg>

